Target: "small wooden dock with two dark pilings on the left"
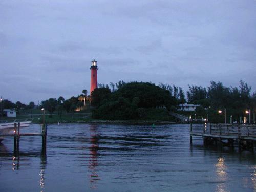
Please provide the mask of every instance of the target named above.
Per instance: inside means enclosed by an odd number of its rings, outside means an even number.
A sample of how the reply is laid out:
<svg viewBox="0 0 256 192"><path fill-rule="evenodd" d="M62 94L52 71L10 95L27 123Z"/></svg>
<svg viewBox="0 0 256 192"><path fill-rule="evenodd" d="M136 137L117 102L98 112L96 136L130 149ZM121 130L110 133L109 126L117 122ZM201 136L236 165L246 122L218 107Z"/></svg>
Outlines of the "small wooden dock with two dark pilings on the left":
<svg viewBox="0 0 256 192"><path fill-rule="evenodd" d="M20 133L20 123L14 123L14 131L11 134L0 134L0 137L13 137L13 151L19 152L19 139L20 137L41 136L42 137L42 151L46 153L47 141L47 124L42 124L41 132L37 133Z"/></svg>

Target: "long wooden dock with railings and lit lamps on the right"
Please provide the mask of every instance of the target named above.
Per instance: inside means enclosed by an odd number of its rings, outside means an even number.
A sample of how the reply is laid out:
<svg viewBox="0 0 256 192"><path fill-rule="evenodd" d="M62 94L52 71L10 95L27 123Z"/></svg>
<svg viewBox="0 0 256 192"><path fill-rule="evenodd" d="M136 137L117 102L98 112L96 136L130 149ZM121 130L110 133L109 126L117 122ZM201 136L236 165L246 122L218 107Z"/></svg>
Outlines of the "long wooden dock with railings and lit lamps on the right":
<svg viewBox="0 0 256 192"><path fill-rule="evenodd" d="M201 127L190 123L190 144L194 136L203 138L204 146L215 144L219 147L234 146L240 150L254 151L256 124L204 124ZM226 142L225 142L226 141Z"/></svg>

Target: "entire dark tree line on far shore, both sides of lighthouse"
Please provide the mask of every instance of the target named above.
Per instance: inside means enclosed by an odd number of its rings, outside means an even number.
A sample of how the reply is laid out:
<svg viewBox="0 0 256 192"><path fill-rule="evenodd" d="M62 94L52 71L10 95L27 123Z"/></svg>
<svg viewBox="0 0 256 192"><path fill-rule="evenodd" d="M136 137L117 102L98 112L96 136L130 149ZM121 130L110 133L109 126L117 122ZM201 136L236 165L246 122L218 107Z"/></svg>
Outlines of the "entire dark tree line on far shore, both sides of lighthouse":
<svg viewBox="0 0 256 192"><path fill-rule="evenodd" d="M110 82L108 84L99 83L98 88L92 92L91 97L87 96L87 90L82 90L82 94L77 97L72 96L64 99L62 96L49 98L41 101L39 108L45 108L49 113L58 111L62 113L82 110L87 102L95 106L94 118L105 119L130 119L141 118L148 108L166 108L176 111L179 104L185 102L200 104L195 112L188 115L197 114L197 117L209 116L214 121L220 120L221 116L217 110L227 111L227 117L232 115L234 120L239 121L246 109L256 110L256 92L251 94L251 87L243 80L239 81L238 87L226 87L222 82L210 81L208 87L188 84L188 90L183 91L181 87L167 83L154 84L152 82ZM33 109L35 103L28 105L17 101L12 103L9 100L2 100L2 109ZM185 113L185 112L184 112ZM115 114L115 115L113 115Z"/></svg>

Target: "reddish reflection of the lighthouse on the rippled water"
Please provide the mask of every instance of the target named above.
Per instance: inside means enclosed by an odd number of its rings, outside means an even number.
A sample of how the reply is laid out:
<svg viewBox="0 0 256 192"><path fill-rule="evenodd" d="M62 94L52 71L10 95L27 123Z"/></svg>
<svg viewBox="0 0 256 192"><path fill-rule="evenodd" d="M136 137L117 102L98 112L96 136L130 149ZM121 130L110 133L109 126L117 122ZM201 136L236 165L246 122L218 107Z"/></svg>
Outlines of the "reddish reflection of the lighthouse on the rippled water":
<svg viewBox="0 0 256 192"><path fill-rule="evenodd" d="M96 126L91 125L90 127L91 131L91 146L90 146L90 158L89 158L89 169L91 171L90 173L90 183L91 188L96 188L97 181L100 180L99 175L97 174L97 166L98 166L98 135L96 133Z"/></svg>

